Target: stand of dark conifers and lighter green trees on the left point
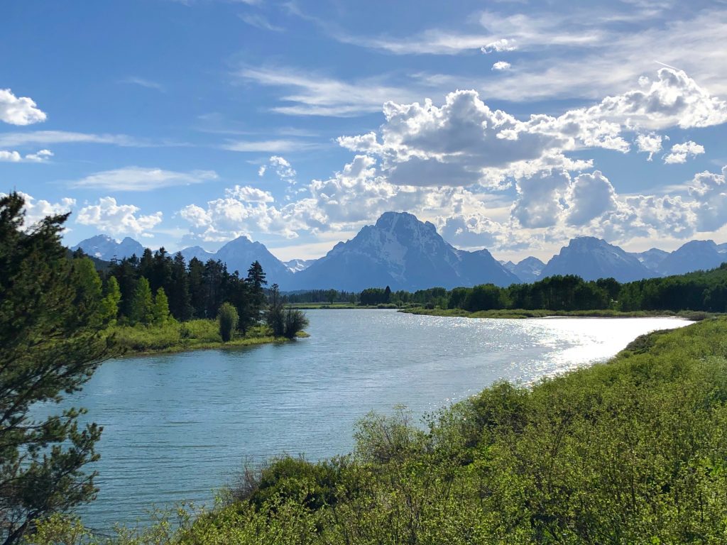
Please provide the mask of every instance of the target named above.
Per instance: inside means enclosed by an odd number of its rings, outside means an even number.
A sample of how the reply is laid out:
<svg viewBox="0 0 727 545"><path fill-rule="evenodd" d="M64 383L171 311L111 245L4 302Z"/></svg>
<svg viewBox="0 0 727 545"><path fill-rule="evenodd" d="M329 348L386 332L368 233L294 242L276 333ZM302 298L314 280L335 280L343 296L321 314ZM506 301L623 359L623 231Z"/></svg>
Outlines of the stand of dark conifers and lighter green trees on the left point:
<svg viewBox="0 0 727 545"><path fill-rule="evenodd" d="M267 280L257 261L241 277L219 260L203 263L193 257L188 265L180 253L172 257L164 248L146 249L141 257L111 262L99 274L108 315L119 324L163 325L169 316L180 322L214 319L227 302L237 312L236 328L245 333L267 305Z"/></svg>

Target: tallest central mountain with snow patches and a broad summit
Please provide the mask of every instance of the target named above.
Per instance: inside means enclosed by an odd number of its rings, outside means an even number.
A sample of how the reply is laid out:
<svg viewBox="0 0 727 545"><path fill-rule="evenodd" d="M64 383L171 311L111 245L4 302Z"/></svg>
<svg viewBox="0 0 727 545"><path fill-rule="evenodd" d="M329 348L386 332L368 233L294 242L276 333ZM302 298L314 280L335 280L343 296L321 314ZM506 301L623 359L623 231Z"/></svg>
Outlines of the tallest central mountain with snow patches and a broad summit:
<svg viewBox="0 0 727 545"><path fill-rule="evenodd" d="M350 241L337 243L325 257L296 273L296 289L370 287L417 290L442 286L495 283L508 286L518 278L489 251L455 249L430 222L406 212L386 212Z"/></svg>

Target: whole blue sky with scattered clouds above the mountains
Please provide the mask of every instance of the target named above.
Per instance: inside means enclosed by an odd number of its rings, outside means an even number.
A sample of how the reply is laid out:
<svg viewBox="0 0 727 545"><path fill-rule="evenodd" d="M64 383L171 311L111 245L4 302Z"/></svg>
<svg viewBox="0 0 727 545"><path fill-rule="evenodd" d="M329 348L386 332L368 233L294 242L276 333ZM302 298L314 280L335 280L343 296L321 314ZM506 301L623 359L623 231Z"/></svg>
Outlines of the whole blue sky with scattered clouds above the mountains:
<svg viewBox="0 0 727 545"><path fill-rule="evenodd" d="M727 1L6 0L28 222L310 259L385 211L498 259L727 242Z"/></svg>

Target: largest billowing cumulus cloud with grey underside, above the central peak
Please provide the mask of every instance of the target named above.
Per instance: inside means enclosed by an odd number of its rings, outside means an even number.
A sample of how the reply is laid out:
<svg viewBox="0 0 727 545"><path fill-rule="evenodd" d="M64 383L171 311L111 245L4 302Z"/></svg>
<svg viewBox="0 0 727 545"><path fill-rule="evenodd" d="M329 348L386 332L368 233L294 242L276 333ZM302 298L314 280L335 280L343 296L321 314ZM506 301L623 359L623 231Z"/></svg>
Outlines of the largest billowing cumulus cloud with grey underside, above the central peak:
<svg viewBox="0 0 727 545"><path fill-rule="evenodd" d="M507 177L523 177L554 168L585 169L590 161L564 155L576 148L586 129L569 120L533 116L519 121L491 110L475 91L449 93L441 107L384 105L379 134L340 137L349 150L379 156L382 173L397 185L498 187ZM608 145L608 127L593 126L589 142Z"/></svg>

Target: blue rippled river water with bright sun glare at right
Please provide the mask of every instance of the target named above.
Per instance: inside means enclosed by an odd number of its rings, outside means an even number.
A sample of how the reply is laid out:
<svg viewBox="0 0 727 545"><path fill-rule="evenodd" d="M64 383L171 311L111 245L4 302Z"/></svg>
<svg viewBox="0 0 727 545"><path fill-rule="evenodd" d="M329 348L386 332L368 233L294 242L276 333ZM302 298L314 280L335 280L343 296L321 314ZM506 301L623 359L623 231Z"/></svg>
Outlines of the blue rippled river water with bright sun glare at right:
<svg viewBox="0 0 727 545"><path fill-rule="evenodd" d="M357 419L397 403L420 415L497 379L532 382L603 360L670 318L470 320L313 310L310 339L113 360L73 404L102 424L96 528L152 504L210 504L245 458L350 451Z"/></svg>

